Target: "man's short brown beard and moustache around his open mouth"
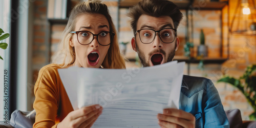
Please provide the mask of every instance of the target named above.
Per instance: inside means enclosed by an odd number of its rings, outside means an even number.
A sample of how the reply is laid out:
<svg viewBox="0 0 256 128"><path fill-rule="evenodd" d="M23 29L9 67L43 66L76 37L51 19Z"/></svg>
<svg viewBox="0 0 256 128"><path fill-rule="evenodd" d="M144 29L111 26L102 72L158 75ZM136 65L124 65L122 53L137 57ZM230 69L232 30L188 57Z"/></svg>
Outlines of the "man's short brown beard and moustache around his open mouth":
<svg viewBox="0 0 256 128"><path fill-rule="evenodd" d="M136 43L136 42L135 42ZM163 59L166 59L165 62L170 62L170 61L173 61L173 58L174 58L174 55L175 55L175 49L176 49L177 45L175 44L175 48L170 51L168 53L168 55L166 56L166 53L162 50L162 49L156 49L150 53L148 53L148 56L151 57L152 54L156 53L156 52L159 52L159 53L162 53L165 58ZM145 54L142 52L142 50L139 49L139 47L137 46L136 44L136 50L137 50L137 53L138 53L138 56L140 58L140 62L142 64L143 67L148 67L150 66L150 61L151 61L151 58L148 58L148 62L146 62L146 58L145 58ZM167 57L167 58L166 58ZM163 60L162 60L163 61Z"/></svg>

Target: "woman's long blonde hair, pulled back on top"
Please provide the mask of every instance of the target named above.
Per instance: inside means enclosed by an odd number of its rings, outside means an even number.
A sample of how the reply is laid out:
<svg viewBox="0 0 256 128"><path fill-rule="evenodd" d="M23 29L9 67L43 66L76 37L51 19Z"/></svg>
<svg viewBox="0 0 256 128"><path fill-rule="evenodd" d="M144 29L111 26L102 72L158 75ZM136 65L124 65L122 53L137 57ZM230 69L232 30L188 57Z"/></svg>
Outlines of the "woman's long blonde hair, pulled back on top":
<svg viewBox="0 0 256 128"><path fill-rule="evenodd" d="M119 44L117 32L109 14L108 7L100 1L88 1L77 4L71 11L68 24L62 33L62 39L58 46L57 52L52 56L51 63L57 63L59 66L65 68L69 67L75 62L74 47L69 45L69 40L72 37L71 31L74 31L76 18L82 14L102 14L108 19L110 25L110 32L115 33L113 42L110 44L108 53L106 54L101 67L106 69L124 69L124 58L119 51Z"/></svg>

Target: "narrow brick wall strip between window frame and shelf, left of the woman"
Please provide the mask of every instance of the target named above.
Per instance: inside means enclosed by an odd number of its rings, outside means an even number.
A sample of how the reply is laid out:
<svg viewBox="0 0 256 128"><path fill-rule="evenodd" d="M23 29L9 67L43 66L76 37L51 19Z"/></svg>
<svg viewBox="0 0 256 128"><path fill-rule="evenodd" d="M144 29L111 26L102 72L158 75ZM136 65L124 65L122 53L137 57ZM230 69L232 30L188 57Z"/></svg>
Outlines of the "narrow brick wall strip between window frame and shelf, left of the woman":
<svg viewBox="0 0 256 128"><path fill-rule="evenodd" d="M46 40L46 27L47 27L47 0L36 0L32 2L34 15L33 15L33 51L32 51L32 74L33 83L28 83L29 93L31 94L31 106L33 108L34 102L34 83L38 77L38 71L41 67L48 64L48 45Z"/></svg>

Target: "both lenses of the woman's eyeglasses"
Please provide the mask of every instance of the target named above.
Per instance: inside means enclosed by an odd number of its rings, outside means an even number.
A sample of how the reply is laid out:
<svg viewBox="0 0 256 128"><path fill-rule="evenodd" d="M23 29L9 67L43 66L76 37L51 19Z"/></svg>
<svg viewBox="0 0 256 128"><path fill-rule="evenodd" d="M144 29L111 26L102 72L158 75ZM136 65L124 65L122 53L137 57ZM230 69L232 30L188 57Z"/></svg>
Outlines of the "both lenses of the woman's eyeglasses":
<svg viewBox="0 0 256 128"><path fill-rule="evenodd" d="M89 31L81 31L77 34L78 41L82 45L88 45L93 41L94 35ZM97 34L97 40L100 45L109 45L111 42L109 32L101 32Z"/></svg>

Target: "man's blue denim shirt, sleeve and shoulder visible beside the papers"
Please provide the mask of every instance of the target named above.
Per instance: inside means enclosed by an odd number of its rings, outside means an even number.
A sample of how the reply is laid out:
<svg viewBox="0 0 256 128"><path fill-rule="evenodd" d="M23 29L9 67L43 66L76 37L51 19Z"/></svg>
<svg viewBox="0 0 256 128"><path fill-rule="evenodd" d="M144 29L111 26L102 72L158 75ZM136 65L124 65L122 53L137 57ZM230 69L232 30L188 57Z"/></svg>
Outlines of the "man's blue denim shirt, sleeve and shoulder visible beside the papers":
<svg viewBox="0 0 256 128"><path fill-rule="evenodd" d="M196 127L229 127L219 93L207 78L184 75L179 105L196 117Z"/></svg>

